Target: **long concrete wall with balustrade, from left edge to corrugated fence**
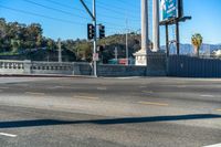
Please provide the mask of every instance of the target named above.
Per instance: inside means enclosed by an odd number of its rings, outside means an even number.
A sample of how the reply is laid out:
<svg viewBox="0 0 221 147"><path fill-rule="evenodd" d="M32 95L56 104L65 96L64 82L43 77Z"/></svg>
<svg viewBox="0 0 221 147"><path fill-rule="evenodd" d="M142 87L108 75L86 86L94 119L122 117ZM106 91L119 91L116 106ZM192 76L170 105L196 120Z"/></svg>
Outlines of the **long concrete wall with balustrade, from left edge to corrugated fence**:
<svg viewBox="0 0 221 147"><path fill-rule="evenodd" d="M0 60L0 74L64 74L93 75L93 66L86 62L35 62ZM149 54L147 66L98 65L98 76L156 76L166 75L166 57L162 54Z"/></svg>

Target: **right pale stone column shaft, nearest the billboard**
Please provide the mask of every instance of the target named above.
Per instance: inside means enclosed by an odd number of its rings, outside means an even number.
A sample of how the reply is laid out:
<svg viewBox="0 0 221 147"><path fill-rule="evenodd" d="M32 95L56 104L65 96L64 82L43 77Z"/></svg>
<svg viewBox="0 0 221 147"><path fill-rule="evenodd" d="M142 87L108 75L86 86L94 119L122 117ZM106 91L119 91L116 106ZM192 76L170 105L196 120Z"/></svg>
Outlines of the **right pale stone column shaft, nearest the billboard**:
<svg viewBox="0 0 221 147"><path fill-rule="evenodd" d="M152 52L159 51L159 0L152 0Z"/></svg>

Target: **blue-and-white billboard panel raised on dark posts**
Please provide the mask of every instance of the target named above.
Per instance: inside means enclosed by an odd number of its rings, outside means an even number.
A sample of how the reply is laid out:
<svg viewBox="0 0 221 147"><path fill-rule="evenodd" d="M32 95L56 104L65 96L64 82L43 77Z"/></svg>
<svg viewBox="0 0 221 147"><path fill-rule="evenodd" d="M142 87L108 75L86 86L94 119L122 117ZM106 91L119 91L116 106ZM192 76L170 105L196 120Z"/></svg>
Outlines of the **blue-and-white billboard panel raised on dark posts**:
<svg viewBox="0 0 221 147"><path fill-rule="evenodd" d="M161 21L182 17L182 0L160 0Z"/></svg>

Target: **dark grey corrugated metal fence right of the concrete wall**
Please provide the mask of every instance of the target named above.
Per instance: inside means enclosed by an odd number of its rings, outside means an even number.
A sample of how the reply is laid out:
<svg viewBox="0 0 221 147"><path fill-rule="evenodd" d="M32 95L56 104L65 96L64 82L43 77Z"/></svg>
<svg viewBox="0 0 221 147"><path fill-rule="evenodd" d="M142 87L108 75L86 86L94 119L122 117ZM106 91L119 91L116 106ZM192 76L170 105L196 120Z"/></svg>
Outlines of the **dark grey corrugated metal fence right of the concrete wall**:
<svg viewBox="0 0 221 147"><path fill-rule="evenodd" d="M167 60L169 76L221 77L221 60L171 55Z"/></svg>

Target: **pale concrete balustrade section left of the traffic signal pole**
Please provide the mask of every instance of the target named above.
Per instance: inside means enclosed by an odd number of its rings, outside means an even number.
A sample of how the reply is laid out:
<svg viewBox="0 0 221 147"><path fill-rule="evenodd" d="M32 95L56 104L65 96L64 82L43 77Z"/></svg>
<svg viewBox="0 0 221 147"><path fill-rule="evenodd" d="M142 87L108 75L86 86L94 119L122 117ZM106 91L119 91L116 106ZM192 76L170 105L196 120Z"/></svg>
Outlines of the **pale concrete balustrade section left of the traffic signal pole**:
<svg viewBox="0 0 221 147"><path fill-rule="evenodd" d="M0 74L65 74L65 75L91 75L90 63L81 62L32 62L0 60Z"/></svg>

